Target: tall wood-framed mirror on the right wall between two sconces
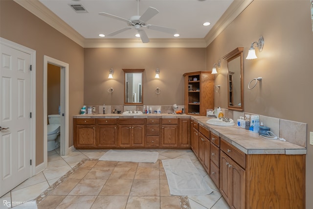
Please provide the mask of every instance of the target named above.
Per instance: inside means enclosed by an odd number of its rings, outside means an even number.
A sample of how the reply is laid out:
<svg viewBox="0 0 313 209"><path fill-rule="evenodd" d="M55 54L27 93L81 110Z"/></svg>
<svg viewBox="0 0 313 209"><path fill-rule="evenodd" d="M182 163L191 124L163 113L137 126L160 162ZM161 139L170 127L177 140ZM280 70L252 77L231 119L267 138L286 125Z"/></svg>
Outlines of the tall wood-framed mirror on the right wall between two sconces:
<svg viewBox="0 0 313 209"><path fill-rule="evenodd" d="M226 54L223 59L227 61L228 109L244 110L244 47L238 47Z"/></svg>

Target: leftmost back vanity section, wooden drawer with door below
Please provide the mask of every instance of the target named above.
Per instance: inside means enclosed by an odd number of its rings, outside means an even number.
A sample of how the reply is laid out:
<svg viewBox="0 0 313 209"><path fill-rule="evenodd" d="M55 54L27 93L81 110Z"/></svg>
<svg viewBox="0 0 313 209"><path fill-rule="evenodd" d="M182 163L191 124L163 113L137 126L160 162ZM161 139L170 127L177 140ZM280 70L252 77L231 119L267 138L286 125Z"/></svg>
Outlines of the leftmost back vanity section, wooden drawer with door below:
<svg viewBox="0 0 313 209"><path fill-rule="evenodd" d="M96 119L74 118L74 147L94 148L96 147Z"/></svg>

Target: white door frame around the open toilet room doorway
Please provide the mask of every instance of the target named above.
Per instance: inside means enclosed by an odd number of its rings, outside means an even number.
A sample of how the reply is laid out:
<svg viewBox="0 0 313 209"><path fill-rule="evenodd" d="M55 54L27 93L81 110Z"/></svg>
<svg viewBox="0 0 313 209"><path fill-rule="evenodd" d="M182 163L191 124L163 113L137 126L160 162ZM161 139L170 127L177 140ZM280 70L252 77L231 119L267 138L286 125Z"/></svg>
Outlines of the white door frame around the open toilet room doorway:
<svg viewBox="0 0 313 209"><path fill-rule="evenodd" d="M60 154L67 155L69 153L68 148L68 74L69 65L60 60L44 55L44 163L45 167L48 164L48 147L47 147L47 75L48 75L48 63L59 66L61 68L61 134L60 134ZM64 116L62 116L64 114Z"/></svg>

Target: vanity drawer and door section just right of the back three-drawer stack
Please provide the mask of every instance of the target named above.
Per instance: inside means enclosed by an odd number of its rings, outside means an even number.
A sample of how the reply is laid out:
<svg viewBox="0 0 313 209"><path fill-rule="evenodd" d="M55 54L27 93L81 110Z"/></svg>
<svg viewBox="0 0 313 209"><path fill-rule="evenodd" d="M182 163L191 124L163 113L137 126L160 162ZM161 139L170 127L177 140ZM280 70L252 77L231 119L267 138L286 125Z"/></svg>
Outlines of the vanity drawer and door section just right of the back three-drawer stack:
<svg viewBox="0 0 313 209"><path fill-rule="evenodd" d="M179 123L178 118L162 118L162 147L178 147Z"/></svg>

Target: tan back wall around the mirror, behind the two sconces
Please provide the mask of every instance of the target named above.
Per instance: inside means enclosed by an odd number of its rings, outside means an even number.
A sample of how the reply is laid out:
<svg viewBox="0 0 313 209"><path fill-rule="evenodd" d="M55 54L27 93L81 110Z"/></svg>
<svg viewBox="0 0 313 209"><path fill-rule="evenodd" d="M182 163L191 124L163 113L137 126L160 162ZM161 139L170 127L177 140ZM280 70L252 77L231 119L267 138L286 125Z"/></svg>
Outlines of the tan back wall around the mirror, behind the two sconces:
<svg viewBox="0 0 313 209"><path fill-rule="evenodd" d="M86 105L124 104L122 69L145 69L145 105L183 105L183 73L205 70L205 57L205 48L85 48L84 102ZM108 79L111 68L113 79ZM159 79L155 79L156 68L160 69ZM108 93L111 87L114 92ZM155 93L157 87L160 94Z"/></svg>

